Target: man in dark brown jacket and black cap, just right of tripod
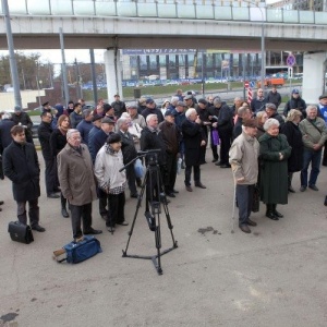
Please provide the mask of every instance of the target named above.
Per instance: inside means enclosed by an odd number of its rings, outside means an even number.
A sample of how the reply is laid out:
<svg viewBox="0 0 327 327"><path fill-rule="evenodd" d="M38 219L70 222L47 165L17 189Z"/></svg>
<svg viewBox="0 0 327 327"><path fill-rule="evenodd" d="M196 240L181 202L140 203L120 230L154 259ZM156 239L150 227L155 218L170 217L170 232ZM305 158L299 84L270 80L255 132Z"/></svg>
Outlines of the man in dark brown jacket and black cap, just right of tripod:
<svg viewBox="0 0 327 327"><path fill-rule="evenodd" d="M177 177L177 160L179 153L180 132L174 123L172 111L165 112L165 121L158 125L162 140L166 144L167 180L165 185L166 195L175 197L174 183Z"/></svg>

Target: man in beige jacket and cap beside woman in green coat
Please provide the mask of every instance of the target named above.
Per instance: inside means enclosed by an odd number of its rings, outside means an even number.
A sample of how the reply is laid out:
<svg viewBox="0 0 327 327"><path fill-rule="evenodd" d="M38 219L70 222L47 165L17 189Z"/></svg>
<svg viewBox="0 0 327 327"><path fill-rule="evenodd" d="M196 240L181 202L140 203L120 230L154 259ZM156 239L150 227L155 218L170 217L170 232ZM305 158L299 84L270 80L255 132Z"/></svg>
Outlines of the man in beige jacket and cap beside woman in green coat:
<svg viewBox="0 0 327 327"><path fill-rule="evenodd" d="M232 167L237 187L239 227L244 233L251 233L249 226L256 226L256 222L249 218L258 174L259 144L255 137L256 132L254 120L244 121L242 134L234 140L229 152L229 162Z"/></svg>

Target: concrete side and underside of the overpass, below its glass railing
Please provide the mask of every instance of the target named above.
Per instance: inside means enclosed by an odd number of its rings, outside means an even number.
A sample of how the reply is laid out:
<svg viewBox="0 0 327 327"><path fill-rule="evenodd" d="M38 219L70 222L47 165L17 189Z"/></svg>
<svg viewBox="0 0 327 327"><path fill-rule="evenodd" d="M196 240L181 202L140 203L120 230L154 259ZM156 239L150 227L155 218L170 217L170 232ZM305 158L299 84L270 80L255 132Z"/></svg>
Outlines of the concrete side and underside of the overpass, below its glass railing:
<svg viewBox="0 0 327 327"><path fill-rule="evenodd" d="M16 49L60 49L59 28L66 49L198 48L259 50L261 22L194 21L126 17L11 16ZM265 23L267 50L327 51L324 25ZM5 24L0 48L7 49Z"/></svg>

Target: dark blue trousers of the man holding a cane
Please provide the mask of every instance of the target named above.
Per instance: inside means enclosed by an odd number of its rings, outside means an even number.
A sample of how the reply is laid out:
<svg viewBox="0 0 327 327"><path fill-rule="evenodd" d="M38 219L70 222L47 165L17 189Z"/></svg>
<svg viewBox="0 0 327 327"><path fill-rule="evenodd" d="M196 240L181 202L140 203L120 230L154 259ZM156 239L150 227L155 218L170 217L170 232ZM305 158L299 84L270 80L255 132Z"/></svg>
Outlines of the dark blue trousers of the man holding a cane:
<svg viewBox="0 0 327 327"><path fill-rule="evenodd" d="M237 201L239 206L239 226L247 225L253 201L254 184L237 184Z"/></svg>

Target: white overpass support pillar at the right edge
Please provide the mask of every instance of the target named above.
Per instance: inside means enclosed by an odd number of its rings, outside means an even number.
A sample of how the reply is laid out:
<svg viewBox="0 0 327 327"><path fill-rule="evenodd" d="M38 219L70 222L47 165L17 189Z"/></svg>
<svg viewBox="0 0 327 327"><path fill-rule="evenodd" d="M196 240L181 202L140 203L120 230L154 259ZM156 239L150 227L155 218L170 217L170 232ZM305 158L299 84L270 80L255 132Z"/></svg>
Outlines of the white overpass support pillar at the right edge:
<svg viewBox="0 0 327 327"><path fill-rule="evenodd" d="M303 90L302 97L306 104L317 104L324 93L326 52L308 52L303 57Z"/></svg>

